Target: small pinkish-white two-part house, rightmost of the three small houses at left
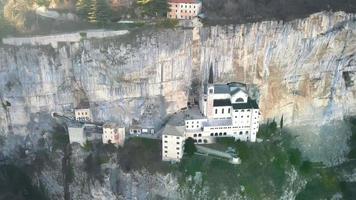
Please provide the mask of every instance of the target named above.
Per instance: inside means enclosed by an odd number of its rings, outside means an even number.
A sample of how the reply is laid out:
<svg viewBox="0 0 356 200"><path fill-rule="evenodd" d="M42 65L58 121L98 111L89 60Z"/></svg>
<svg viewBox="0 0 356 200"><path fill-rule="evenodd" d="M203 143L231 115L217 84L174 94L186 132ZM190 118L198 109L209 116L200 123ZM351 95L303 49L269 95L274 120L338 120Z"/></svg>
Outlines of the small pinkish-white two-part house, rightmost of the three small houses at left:
<svg viewBox="0 0 356 200"><path fill-rule="evenodd" d="M104 124L103 143L112 143L123 146L125 143L125 127L120 127L115 123Z"/></svg>

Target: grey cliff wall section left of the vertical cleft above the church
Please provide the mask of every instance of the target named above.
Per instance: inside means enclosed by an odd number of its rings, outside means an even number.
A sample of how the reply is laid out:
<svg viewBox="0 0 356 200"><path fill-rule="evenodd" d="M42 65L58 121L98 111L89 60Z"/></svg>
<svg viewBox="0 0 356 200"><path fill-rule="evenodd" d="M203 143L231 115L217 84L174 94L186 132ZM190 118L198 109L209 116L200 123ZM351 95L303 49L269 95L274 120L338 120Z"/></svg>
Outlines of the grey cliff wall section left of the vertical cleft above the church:
<svg viewBox="0 0 356 200"><path fill-rule="evenodd" d="M190 46L191 32L171 30L57 48L2 47L1 128L27 134L29 122L52 111L70 113L83 99L97 121L159 123L186 106Z"/></svg>

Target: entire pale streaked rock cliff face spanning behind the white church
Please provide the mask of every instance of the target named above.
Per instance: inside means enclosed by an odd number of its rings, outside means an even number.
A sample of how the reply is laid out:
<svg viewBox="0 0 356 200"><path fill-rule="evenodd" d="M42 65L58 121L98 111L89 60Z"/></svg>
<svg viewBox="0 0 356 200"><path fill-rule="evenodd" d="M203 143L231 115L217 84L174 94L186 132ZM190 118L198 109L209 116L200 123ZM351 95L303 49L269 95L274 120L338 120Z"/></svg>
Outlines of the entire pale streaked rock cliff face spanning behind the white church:
<svg viewBox="0 0 356 200"><path fill-rule="evenodd" d="M96 120L159 123L186 106L189 89L199 89L210 65L217 81L250 84L264 119L342 118L356 113L355 30L354 15L319 13L288 23L147 31L56 48L4 46L0 128L36 132L51 111L71 112L83 99Z"/></svg>

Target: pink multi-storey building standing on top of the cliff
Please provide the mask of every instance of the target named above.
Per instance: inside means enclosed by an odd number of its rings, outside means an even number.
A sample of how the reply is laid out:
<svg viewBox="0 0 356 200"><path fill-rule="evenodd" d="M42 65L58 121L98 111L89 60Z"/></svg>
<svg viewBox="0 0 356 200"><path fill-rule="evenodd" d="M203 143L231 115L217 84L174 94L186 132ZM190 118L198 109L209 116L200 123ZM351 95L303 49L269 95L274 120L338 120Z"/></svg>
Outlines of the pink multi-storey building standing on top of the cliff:
<svg viewBox="0 0 356 200"><path fill-rule="evenodd" d="M169 19L193 19L198 16L202 3L199 0L169 0Z"/></svg>

